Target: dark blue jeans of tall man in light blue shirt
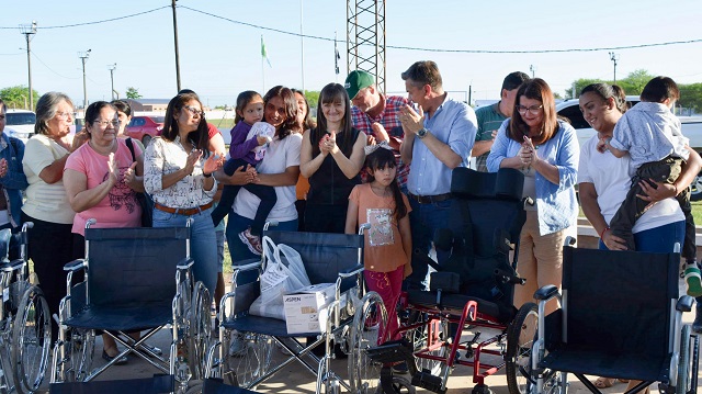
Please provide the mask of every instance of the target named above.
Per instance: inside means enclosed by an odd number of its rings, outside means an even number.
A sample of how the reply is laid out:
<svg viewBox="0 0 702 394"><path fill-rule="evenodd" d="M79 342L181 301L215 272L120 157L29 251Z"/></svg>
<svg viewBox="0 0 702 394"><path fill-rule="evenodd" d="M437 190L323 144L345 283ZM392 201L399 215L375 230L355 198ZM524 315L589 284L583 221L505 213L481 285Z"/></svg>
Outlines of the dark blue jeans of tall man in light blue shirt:
<svg viewBox="0 0 702 394"><path fill-rule="evenodd" d="M412 248L423 254L429 254L432 247L434 233L439 228L450 228L454 237L461 235L461 212L452 210L452 200L420 204L415 199L409 199L412 212L409 213L409 224L412 229ZM452 216L454 216L452 218ZM450 251L437 250L437 260L441 266L450 257ZM412 273L407 277L406 284L409 290L423 290L427 286L427 272L429 267L412 258Z"/></svg>

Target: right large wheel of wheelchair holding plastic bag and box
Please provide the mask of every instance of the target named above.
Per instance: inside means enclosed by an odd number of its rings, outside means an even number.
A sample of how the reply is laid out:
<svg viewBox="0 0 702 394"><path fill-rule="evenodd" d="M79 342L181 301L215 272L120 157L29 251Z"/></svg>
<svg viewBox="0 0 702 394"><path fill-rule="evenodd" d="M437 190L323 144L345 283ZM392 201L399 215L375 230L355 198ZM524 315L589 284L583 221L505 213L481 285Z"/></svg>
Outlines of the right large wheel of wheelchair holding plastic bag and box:
<svg viewBox="0 0 702 394"><path fill-rule="evenodd" d="M365 356L365 350L385 342L381 327L387 325L387 312L376 292L369 292L359 303L351 327L351 352L349 354L349 381L353 393L377 393L381 387L382 364Z"/></svg>

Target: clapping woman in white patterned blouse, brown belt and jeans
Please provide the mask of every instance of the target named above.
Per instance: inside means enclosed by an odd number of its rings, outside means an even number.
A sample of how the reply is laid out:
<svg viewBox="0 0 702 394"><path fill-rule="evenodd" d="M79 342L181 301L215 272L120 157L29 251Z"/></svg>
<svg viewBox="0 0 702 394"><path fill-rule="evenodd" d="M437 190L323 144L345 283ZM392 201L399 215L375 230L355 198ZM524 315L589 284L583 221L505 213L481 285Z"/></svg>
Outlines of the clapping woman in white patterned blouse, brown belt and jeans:
<svg viewBox="0 0 702 394"><path fill-rule="evenodd" d="M195 280L210 294L217 282L217 241L211 218L223 159L208 150L207 122L195 93L176 95L166 110L160 137L146 148L144 185L154 199L154 227L191 227Z"/></svg>

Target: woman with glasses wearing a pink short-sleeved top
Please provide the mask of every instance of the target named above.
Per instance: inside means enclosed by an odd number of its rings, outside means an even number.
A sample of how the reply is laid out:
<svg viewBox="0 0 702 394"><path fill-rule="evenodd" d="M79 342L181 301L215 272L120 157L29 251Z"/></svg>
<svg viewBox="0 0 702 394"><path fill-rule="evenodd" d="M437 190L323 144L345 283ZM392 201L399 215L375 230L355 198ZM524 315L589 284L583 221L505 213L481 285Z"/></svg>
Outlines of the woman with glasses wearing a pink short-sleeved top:
<svg viewBox="0 0 702 394"><path fill-rule="evenodd" d="M144 191L141 173L144 161L141 148L134 145L136 161L125 139L118 137L120 121L117 109L98 101L86 110L86 133L88 143L76 149L66 161L64 187L73 217L73 258L86 255L86 223L90 218L98 222L92 226L139 227L141 206L135 192ZM111 361L120 352L114 339L102 335L102 358ZM123 364L126 357L115 364Z"/></svg>

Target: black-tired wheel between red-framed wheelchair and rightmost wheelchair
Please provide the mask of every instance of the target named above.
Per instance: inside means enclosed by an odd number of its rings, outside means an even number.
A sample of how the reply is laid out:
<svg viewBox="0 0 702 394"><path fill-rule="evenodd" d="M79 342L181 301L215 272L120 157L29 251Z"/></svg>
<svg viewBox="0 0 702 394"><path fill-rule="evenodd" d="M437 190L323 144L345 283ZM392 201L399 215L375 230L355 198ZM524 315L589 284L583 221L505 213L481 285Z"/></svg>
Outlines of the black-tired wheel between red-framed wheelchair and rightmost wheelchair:
<svg viewBox="0 0 702 394"><path fill-rule="evenodd" d="M532 347L539 328L536 304L526 303L514 316L507 329L507 352L505 354L507 387L510 394L529 394L536 384L531 371Z"/></svg>

